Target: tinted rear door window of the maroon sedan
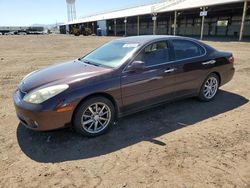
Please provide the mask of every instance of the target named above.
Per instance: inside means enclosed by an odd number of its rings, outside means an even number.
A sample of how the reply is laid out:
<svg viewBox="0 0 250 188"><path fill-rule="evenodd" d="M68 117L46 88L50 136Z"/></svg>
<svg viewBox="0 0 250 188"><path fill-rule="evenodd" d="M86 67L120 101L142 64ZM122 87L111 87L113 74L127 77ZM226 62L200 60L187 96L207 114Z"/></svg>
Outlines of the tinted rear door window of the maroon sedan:
<svg viewBox="0 0 250 188"><path fill-rule="evenodd" d="M176 39L172 41L172 44L176 60L199 57L205 54L204 48L192 41Z"/></svg>

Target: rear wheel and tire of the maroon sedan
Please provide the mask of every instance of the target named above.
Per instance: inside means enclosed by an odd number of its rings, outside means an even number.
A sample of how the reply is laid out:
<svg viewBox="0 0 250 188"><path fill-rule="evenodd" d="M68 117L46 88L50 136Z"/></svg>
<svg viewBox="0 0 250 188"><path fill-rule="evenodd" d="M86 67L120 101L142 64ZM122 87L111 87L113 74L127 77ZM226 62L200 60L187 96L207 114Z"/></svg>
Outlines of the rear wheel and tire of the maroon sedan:
<svg viewBox="0 0 250 188"><path fill-rule="evenodd" d="M200 92L199 99L204 102L212 101L218 93L220 79L215 73L211 73L205 79Z"/></svg>

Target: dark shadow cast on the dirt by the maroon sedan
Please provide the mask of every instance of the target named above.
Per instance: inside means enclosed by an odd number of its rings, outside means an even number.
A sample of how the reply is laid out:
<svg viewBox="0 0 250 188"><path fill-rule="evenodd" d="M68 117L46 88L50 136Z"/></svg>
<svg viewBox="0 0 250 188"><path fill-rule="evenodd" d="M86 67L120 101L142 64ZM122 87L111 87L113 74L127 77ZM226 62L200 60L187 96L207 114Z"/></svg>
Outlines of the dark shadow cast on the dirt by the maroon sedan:
<svg viewBox="0 0 250 188"><path fill-rule="evenodd" d="M96 138L85 138L69 129L34 132L19 124L17 140L22 151L37 162L58 163L86 159L141 141L164 146L166 143L155 138L248 102L248 99L226 91L220 91L216 99L209 103L185 99L124 117L110 132Z"/></svg>

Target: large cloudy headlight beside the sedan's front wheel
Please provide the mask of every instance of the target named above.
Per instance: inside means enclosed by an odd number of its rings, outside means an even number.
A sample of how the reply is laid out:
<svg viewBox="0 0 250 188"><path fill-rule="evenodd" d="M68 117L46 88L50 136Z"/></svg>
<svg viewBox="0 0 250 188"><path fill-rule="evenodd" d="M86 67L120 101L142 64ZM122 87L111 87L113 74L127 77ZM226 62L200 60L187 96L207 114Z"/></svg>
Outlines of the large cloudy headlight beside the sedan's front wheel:
<svg viewBox="0 0 250 188"><path fill-rule="evenodd" d="M33 104L40 104L56 95L59 93L62 93L66 89L68 89L68 85L55 85L47 88L43 88L37 91L33 91L29 94L27 94L23 100L25 102L33 103Z"/></svg>

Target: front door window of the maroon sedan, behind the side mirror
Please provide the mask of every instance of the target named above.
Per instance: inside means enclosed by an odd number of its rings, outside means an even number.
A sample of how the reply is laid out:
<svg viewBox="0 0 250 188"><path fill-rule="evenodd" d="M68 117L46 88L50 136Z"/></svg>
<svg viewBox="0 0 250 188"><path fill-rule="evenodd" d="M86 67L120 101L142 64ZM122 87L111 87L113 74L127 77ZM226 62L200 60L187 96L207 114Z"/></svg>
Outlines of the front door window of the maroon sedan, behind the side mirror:
<svg viewBox="0 0 250 188"><path fill-rule="evenodd" d="M169 45L167 41L155 42L145 47L135 58L136 61L143 61L146 67L160 65L169 62Z"/></svg>

